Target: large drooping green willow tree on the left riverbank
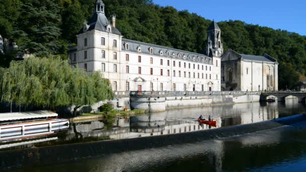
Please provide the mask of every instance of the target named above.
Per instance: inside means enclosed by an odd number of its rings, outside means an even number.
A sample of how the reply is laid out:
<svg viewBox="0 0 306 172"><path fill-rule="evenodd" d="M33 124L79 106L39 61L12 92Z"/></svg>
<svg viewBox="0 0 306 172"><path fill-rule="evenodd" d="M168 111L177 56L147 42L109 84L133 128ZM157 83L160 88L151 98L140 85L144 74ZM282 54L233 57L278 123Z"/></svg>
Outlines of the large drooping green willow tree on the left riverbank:
<svg viewBox="0 0 306 172"><path fill-rule="evenodd" d="M82 69L71 68L67 60L59 57L12 61L2 73L1 101L11 105L45 109L75 105L75 114L83 105L113 98L108 80L100 73L88 75Z"/></svg>

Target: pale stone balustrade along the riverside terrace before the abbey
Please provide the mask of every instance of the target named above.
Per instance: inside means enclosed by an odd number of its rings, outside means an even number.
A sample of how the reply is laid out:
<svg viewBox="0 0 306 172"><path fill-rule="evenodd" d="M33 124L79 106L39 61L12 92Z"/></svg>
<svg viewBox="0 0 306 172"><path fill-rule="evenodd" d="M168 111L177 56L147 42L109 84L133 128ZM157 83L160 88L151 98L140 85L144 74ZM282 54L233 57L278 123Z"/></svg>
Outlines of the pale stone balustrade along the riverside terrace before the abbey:
<svg viewBox="0 0 306 172"><path fill-rule="evenodd" d="M224 91L224 92L176 92L176 91L163 91L163 92L114 92L118 98L121 97L176 97L176 96L225 96L225 95L260 95L261 92L240 92L240 91Z"/></svg>

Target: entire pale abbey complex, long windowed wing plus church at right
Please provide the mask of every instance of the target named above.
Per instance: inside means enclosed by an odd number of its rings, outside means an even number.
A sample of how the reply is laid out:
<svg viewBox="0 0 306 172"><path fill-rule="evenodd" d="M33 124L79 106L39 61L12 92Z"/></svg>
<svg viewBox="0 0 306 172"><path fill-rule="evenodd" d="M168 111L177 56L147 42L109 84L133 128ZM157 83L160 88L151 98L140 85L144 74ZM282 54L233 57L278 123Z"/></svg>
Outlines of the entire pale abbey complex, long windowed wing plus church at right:
<svg viewBox="0 0 306 172"><path fill-rule="evenodd" d="M204 55L124 39L115 16L112 24L107 20L102 0L95 7L68 55L72 66L100 71L114 91L278 90L277 61L267 54L245 55L231 49L223 54L221 30L214 21Z"/></svg>

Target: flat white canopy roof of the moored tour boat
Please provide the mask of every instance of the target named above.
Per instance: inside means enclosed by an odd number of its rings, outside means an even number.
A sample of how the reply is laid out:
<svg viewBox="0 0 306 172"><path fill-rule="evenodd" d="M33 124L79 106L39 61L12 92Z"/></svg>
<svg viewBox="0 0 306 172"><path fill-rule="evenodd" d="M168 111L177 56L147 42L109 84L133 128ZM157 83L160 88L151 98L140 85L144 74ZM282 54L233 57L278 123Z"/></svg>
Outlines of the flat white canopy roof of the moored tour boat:
<svg viewBox="0 0 306 172"><path fill-rule="evenodd" d="M48 117L57 117L57 114L52 111L0 113L0 122L33 119L33 118L48 118Z"/></svg>

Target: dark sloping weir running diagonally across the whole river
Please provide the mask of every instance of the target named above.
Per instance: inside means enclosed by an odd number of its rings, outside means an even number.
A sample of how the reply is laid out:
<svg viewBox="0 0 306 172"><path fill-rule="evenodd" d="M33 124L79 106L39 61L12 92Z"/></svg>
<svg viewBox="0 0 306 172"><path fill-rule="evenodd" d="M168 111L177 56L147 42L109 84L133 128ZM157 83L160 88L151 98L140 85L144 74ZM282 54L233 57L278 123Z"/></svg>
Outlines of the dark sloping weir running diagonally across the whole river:
<svg viewBox="0 0 306 172"><path fill-rule="evenodd" d="M284 127L297 121L306 120L305 115L295 115L283 119L258 122L253 124L221 127L211 130L164 134L160 136L138 137L131 139L95 141L57 146L33 147L28 149L0 152L0 168L50 164L75 159L102 156L129 150L148 149L175 144L194 143L203 140L219 139L257 131ZM7 156L10 154L10 156Z"/></svg>

